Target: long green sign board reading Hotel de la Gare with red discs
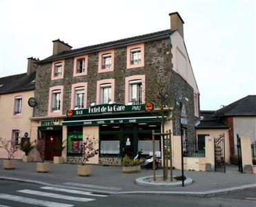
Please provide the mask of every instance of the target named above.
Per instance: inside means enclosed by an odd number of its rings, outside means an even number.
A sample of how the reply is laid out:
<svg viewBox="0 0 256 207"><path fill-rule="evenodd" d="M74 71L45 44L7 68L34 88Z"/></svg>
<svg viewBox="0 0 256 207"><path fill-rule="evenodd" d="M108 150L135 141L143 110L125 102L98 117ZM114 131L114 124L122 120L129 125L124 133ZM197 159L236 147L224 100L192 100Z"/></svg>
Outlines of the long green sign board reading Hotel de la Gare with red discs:
<svg viewBox="0 0 256 207"><path fill-rule="evenodd" d="M84 115L108 115L121 112L145 112L154 110L152 103L124 105L122 103L101 104L89 108L68 110L67 117L79 117Z"/></svg>

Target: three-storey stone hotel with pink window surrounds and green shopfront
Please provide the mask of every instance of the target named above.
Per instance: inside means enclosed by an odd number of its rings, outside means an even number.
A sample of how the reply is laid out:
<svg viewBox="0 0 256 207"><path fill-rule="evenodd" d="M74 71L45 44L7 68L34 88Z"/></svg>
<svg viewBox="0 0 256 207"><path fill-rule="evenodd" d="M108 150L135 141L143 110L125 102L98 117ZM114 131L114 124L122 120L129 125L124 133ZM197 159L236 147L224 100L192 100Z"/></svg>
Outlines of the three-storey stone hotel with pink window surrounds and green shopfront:
<svg viewBox="0 0 256 207"><path fill-rule="evenodd" d="M184 141L196 141L199 90L184 43L184 21L177 12L169 15L170 29L160 32L79 49L53 41L52 55L37 61L38 104L31 118L31 136L45 141L46 159L58 156L55 145L66 140L62 156L77 163L86 137L99 144L99 155L90 160L94 164L119 165L124 154L135 156L140 149L150 154L152 130L161 131L163 84L173 108L165 130L181 134L183 103ZM161 138L156 140L161 155Z"/></svg>

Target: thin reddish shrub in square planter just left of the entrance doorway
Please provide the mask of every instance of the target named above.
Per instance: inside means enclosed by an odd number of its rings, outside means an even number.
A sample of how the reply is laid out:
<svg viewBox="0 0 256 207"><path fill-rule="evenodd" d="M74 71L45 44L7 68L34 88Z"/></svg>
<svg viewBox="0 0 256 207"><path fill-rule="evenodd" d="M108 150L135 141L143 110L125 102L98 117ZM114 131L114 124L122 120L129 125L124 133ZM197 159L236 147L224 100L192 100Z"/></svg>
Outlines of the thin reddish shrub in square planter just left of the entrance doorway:
<svg viewBox="0 0 256 207"><path fill-rule="evenodd" d="M38 139L37 152L39 152L41 162L37 162L37 172L48 172L50 170L50 163L44 162L44 153L45 153L45 142L44 139Z"/></svg>

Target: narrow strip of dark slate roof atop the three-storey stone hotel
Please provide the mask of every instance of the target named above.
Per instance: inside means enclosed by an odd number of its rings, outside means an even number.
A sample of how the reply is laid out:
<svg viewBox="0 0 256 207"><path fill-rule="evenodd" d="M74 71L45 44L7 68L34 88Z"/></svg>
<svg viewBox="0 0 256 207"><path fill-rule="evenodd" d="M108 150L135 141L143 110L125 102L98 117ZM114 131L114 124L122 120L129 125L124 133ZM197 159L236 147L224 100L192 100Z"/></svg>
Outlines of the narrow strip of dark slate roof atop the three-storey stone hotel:
<svg viewBox="0 0 256 207"><path fill-rule="evenodd" d="M68 51L64 51L61 52L57 55L52 55L50 57L47 57L46 59L43 59L41 61L37 61L37 64L40 63L47 63L49 61L52 61L53 59L60 59L60 58L68 58L68 57L73 57L75 55L79 55L81 53L86 53L86 52L97 52L99 50L103 50L106 48L118 48L118 47L122 47L122 46L127 46L130 43L136 43L139 41L150 41L152 39L166 39L169 37L170 34L173 34L173 32L175 31L170 31L169 30L162 30L159 32L153 32L153 33L149 33L149 34L143 34L143 35L139 35L136 37L129 37L126 39L119 39L116 41L109 41L106 43L100 43L97 45L93 45L93 46L86 46L83 48L77 48L74 50L68 50Z"/></svg>

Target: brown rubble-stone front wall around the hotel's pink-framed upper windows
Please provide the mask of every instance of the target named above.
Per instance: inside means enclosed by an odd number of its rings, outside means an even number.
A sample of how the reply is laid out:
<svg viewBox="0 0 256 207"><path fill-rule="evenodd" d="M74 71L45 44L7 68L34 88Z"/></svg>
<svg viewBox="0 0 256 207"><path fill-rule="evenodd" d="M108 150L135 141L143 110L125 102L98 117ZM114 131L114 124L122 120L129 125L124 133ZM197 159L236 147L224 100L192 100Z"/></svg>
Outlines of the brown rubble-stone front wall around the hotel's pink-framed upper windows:
<svg viewBox="0 0 256 207"><path fill-rule="evenodd" d="M101 79L115 79L115 101L124 103L125 78L132 75L146 75L146 102L155 102L157 99L157 77L167 75L170 70L170 39L152 41L144 45L145 63L141 68L126 68L126 47L115 49L114 71L98 73L98 52L88 54L88 75L73 77L73 58L65 59L64 78L51 81L52 63L43 63L37 70L35 84L35 98L38 106L35 107L35 117L48 115L49 88L64 86L63 115L70 109L71 86L73 83L88 82L87 106L96 102L97 81Z"/></svg>

